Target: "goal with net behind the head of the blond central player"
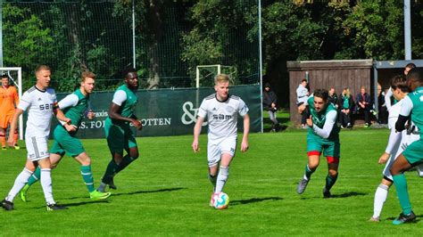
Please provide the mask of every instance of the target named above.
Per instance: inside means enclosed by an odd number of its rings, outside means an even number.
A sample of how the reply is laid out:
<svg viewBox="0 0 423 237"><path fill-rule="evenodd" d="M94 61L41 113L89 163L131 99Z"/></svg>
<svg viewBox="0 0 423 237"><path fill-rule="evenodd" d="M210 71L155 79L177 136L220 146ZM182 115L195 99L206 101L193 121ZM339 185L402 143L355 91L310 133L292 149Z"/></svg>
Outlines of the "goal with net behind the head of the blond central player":
<svg viewBox="0 0 423 237"><path fill-rule="evenodd" d="M228 74L231 85L237 85L237 70L234 66L198 65L195 71L195 87L214 86L214 77L218 74Z"/></svg>

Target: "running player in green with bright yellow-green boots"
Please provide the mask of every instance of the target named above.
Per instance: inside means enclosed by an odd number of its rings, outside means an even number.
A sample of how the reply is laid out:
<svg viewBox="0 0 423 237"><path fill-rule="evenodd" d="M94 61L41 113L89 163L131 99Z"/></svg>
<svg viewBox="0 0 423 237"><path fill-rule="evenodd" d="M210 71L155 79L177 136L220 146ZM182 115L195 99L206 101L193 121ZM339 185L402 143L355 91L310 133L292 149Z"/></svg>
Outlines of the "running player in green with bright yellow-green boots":
<svg viewBox="0 0 423 237"><path fill-rule="evenodd" d="M88 157L82 143L76 137L78 128L82 119L87 116L88 119L94 118L94 113L89 109L89 94L94 90L95 74L89 71L82 73L80 87L74 93L64 97L59 102L59 108L65 116L71 119L71 124L61 122L54 128L54 143L50 149L50 162L52 168L56 168L62 160L65 153L73 157L80 166L80 174L87 186L91 200L107 199L110 192L98 192L94 187L93 172L91 171L91 159ZM28 184L20 192L21 200L27 201L27 192L29 187L36 183L40 177L40 168L38 167L34 174L29 177Z"/></svg>

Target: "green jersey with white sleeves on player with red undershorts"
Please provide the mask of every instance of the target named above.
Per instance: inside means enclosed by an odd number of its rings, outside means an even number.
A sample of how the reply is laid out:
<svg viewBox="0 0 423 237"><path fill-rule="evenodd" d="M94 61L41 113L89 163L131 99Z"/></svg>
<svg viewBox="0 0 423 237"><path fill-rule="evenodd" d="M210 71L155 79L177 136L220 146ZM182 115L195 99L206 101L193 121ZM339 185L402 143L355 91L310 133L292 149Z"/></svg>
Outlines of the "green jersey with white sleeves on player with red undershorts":
<svg viewBox="0 0 423 237"><path fill-rule="evenodd" d="M332 130L330 131L328 140L339 139L339 127L336 126L337 110L335 105L331 102L328 102L328 106L326 107L325 110L320 110L319 112L317 112L316 109L314 108L314 96L311 96L308 99L307 103L309 104L312 122L315 126L319 128L322 128L322 129L324 128L324 125L327 121L328 114L330 113L331 115L330 119L333 119L333 122L335 122L335 124L332 127ZM308 134L319 136L318 134L316 134L316 132L314 131L312 127L309 127Z"/></svg>

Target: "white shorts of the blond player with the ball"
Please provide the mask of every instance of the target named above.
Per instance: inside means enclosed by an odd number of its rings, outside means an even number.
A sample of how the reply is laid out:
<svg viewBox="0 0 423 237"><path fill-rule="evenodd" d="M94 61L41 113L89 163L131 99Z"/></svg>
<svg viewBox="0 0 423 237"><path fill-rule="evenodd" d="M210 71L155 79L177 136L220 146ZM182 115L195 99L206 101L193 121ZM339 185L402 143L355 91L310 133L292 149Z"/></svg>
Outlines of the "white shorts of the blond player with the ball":
<svg viewBox="0 0 423 237"><path fill-rule="evenodd" d="M209 167L214 167L219 163L222 153L228 153L234 157L235 151L236 135L216 140L209 140L207 143L207 161L209 163Z"/></svg>

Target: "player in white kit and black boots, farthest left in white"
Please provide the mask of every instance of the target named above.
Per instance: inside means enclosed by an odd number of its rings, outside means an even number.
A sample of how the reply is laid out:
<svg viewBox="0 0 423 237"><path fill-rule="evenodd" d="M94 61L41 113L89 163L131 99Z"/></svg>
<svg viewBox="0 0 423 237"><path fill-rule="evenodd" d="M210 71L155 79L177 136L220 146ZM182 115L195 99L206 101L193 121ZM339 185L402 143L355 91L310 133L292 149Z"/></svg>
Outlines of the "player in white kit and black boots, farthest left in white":
<svg viewBox="0 0 423 237"><path fill-rule="evenodd" d="M57 106L57 99L54 89L49 88L51 70L46 65L39 65L35 71L37 84L29 88L21 98L16 108L12 122L11 131L17 126L18 118L23 111L28 110L27 128L25 131L25 145L28 156L25 168L16 177L13 187L7 197L2 200L2 207L6 210L13 209L13 199L21 191L21 188L28 182L29 176L37 166L41 168L41 186L46 198L47 210L58 210L65 207L57 205L53 198L52 178L50 176L51 164L47 148L48 135L53 114L57 119L69 123L62 110ZM10 146L13 145L13 136L9 135L7 140Z"/></svg>

